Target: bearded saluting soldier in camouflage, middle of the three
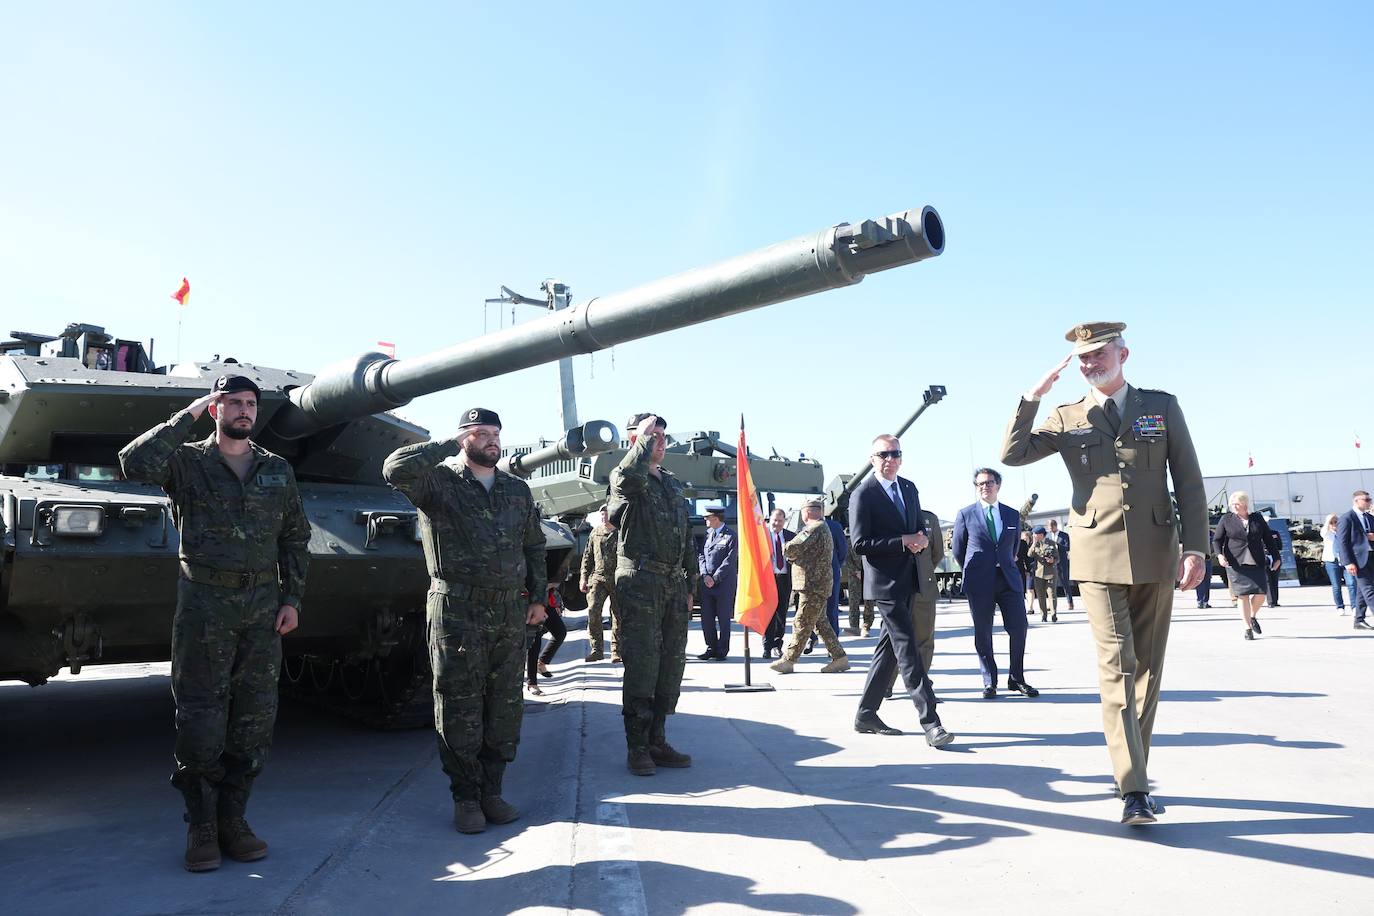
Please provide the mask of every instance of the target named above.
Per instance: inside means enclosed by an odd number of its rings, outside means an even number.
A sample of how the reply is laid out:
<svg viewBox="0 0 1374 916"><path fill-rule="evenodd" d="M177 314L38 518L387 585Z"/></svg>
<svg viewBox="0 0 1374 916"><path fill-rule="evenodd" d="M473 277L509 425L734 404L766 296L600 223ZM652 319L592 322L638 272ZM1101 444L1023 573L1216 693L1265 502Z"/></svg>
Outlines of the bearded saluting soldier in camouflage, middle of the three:
<svg viewBox="0 0 1374 916"><path fill-rule="evenodd" d="M434 728L463 834L519 817L502 798L502 777L525 713L525 626L545 615L539 508L525 481L496 470L500 457L500 417L473 408L455 438L407 445L382 466L419 509Z"/></svg>

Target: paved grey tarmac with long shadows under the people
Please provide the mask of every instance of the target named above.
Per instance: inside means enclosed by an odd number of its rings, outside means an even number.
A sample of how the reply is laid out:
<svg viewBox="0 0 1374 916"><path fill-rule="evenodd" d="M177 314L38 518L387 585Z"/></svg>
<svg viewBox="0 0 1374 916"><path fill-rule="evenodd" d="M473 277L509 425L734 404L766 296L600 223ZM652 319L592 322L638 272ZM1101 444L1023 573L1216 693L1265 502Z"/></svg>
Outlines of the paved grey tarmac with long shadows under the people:
<svg viewBox="0 0 1374 916"><path fill-rule="evenodd" d="M286 703L250 810L271 856L205 875L180 862L165 665L5 684L0 912L1369 913L1374 633L1329 589L1282 599L1248 643L1224 597L1178 597L1150 828L1117 823L1081 611L1033 618L1039 699L988 702L966 606L941 607L944 751L900 698L883 715L914 735L852 731L874 639L844 640L848 673L818 648L797 674L756 665L776 692L725 694L736 630L669 720L694 766L653 779L625 770L618 669L583 665L576 632L507 776L525 814L478 836L452 829L430 732Z"/></svg>

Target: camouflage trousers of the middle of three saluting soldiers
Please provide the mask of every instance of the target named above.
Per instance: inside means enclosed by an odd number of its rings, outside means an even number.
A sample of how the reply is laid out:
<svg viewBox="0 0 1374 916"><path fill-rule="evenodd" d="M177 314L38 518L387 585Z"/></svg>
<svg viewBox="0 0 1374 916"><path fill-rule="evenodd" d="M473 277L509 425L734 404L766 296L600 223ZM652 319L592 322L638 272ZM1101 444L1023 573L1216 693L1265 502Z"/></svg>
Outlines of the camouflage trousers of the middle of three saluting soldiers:
<svg viewBox="0 0 1374 916"><path fill-rule="evenodd" d="M453 801L502 794L525 715L521 669L529 602L474 602L430 592L430 665L438 758Z"/></svg>

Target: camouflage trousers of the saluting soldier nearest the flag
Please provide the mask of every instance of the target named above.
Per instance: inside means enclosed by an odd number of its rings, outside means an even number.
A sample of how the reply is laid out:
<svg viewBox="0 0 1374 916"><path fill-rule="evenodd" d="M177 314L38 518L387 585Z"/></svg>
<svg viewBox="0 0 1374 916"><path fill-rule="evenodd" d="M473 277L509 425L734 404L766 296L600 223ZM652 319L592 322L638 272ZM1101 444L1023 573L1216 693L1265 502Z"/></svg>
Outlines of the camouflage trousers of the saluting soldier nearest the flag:
<svg viewBox="0 0 1374 916"><path fill-rule="evenodd" d="M616 571L620 595L620 656L625 662L621 715L633 750L664 740L665 720L677 711L687 667L687 582L649 570Z"/></svg>

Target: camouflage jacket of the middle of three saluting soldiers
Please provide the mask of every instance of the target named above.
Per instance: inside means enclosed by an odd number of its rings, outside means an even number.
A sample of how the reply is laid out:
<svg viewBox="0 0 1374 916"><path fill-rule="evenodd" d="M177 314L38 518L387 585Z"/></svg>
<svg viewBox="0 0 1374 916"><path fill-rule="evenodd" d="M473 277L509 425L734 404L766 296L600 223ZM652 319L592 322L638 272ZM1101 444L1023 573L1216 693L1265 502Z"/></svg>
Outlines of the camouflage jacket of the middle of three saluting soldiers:
<svg viewBox="0 0 1374 916"><path fill-rule="evenodd" d="M525 481L496 471L491 493L466 466L445 459L458 439L392 452L382 477L415 504L430 577L475 588L523 589L530 603L548 591L544 527Z"/></svg>

